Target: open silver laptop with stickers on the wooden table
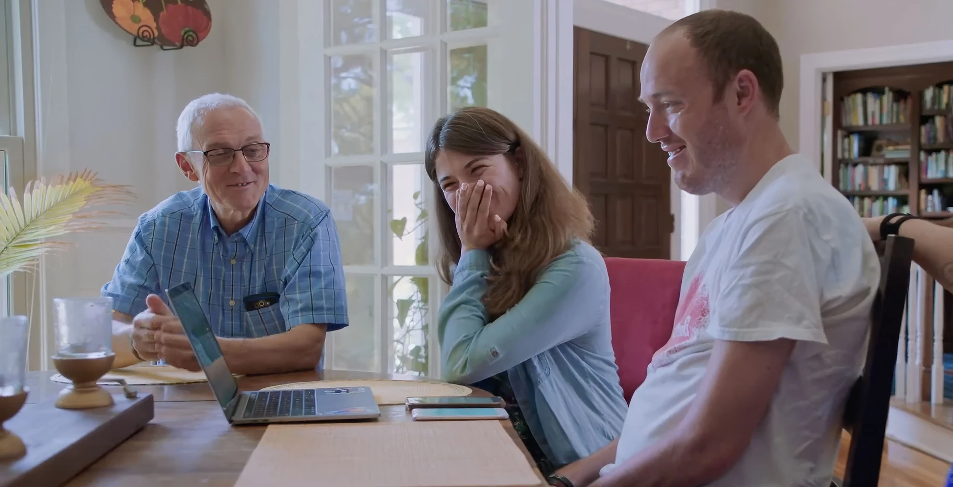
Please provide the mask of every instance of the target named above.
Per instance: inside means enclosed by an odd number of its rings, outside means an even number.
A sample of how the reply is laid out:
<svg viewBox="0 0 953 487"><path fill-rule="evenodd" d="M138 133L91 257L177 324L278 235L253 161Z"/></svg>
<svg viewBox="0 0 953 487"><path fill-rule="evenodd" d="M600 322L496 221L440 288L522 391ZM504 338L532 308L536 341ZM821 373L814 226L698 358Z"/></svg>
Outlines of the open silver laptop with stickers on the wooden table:
<svg viewBox="0 0 953 487"><path fill-rule="evenodd" d="M182 322L198 364L225 418L232 424L340 421L374 419L380 409L369 387L239 391L222 349L212 333L191 283L166 290L172 313Z"/></svg>

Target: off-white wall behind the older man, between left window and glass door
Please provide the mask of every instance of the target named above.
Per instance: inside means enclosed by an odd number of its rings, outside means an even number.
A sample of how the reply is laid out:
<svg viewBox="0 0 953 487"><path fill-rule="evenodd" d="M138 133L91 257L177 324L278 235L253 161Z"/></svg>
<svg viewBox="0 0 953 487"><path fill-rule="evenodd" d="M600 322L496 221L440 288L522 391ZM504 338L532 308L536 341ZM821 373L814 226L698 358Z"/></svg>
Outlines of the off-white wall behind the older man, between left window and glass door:
<svg viewBox="0 0 953 487"><path fill-rule="evenodd" d="M271 167L277 181L279 30L270 0L209 0L209 36L194 48L161 51L133 47L132 36L112 23L99 0L34 5L38 172L89 168L109 183L130 185L137 196L108 229L71 235L74 247L45 259L41 303L50 330L53 297L98 295L135 218L194 187L174 162L175 121L193 98L210 91L245 98L276 146Z"/></svg>

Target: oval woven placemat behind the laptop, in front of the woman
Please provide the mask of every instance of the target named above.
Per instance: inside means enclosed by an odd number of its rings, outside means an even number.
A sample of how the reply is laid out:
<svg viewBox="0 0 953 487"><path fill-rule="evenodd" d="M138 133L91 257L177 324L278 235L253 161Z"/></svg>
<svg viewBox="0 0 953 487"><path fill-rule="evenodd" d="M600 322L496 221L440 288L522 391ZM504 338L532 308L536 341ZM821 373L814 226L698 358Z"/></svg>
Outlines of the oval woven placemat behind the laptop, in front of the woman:
<svg viewBox="0 0 953 487"><path fill-rule="evenodd" d="M390 380L390 379L360 379L360 380L317 380L314 382L294 382L269 386L262 391L275 389L321 389L337 387L370 387L378 405L404 404L407 397L429 396L470 396L472 390L467 386L446 384L443 382L427 382L425 380Z"/></svg>

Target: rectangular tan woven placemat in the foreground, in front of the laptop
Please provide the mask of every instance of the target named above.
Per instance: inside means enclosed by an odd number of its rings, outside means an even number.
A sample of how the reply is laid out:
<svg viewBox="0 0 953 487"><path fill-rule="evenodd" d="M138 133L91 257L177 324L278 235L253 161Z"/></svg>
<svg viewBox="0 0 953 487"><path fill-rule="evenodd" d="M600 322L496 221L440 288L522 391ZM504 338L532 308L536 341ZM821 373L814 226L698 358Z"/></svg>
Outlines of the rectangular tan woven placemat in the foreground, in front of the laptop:
<svg viewBox="0 0 953 487"><path fill-rule="evenodd" d="M497 420L272 424L236 487L543 485Z"/></svg>

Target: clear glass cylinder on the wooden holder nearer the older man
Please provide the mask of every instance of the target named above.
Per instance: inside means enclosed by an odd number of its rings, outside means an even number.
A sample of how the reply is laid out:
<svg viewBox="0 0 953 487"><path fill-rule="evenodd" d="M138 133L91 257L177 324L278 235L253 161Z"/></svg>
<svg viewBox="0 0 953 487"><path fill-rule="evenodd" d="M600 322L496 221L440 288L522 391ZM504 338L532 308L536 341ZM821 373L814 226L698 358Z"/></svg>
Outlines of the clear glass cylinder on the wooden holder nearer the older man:
<svg viewBox="0 0 953 487"><path fill-rule="evenodd" d="M53 319L60 358L112 355L112 297L53 299Z"/></svg>

